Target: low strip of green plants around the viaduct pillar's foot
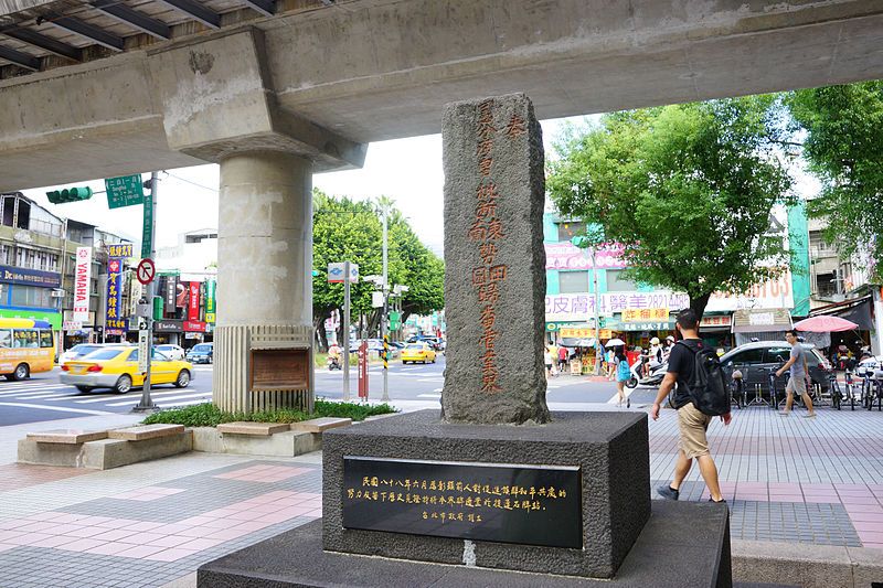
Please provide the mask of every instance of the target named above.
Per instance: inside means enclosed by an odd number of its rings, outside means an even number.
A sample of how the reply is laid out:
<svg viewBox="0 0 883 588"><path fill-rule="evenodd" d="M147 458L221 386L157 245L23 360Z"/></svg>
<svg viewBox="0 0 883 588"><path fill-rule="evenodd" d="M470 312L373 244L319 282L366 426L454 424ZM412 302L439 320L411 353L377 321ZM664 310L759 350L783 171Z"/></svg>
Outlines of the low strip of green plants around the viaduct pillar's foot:
<svg viewBox="0 0 883 588"><path fill-rule="evenodd" d="M316 400L312 415L301 410L266 410L260 413L225 413L212 403L196 404L181 408L169 408L153 413L143 419L145 425L183 425L185 427L216 427L222 423L247 420L254 423L299 423L318 417L343 417L353 420L364 420L374 415L389 415L397 410L387 405L364 405L354 403L338 403L331 400Z"/></svg>

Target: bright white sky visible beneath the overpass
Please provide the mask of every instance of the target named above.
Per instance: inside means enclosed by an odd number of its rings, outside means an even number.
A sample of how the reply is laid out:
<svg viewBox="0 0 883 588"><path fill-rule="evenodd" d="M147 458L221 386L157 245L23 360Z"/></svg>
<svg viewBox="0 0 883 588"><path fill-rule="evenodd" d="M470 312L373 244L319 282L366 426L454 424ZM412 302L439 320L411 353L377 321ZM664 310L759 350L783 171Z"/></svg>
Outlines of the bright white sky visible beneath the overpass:
<svg viewBox="0 0 883 588"><path fill-rule="evenodd" d="M593 116L541 121L546 158L552 153L552 142L560 139L566 124L582 125L596 119ZM818 191L813 178L799 171L796 175L798 194ZM149 178L149 174L143 174L143 178ZM390 196L421 240L439 257L444 253L444 181L440 135L371 143L362 169L317 173L312 178L313 186L330 195L347 195L353 200ZM103 180L76 185L104 191ZM158 248L177 245L179 235L184 232L217 227L217 185L219 167L215 164L160 172L156 218ZM70 186L25 190L24 194L62 217L95 224L140 242L141 206L111 211L107 209L105 194L96 194L85 202L49 203L45 192Z"/></svg>

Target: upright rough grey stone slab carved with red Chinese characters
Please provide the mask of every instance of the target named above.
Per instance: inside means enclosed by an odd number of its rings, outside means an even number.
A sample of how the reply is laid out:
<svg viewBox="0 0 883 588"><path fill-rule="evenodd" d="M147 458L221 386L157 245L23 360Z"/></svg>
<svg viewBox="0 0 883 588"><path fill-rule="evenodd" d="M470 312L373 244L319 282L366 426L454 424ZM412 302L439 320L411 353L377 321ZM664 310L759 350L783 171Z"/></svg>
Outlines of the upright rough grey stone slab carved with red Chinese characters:
<svg viewBox="0 0 883 588"><path fill-rule="evenodd" d="M443 132L444 418L545 423L539 122L530 100L511 95L449 105Z"/></svg>

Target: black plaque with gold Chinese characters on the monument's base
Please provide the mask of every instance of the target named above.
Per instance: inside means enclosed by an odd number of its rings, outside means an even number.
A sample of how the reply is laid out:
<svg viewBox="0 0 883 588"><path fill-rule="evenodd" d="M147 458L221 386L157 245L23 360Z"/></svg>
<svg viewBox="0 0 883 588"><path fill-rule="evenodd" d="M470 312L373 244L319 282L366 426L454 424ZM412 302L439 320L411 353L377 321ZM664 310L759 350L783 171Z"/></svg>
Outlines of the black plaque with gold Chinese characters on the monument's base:
<svg viewBox="0 0 883 588"><path fill-rule="evenodd" d="M583 547L577 467L343 458L343 526Z"/></svg>

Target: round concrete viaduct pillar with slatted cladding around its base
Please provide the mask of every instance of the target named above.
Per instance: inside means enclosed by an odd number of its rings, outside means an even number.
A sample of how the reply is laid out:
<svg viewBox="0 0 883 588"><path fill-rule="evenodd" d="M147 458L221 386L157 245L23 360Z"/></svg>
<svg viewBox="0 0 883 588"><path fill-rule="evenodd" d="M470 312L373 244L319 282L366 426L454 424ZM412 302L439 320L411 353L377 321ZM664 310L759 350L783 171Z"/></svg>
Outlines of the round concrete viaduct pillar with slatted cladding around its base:
<svg viewBox="0 0 883 588"><path fill-rule="evenodd" d="M283 152L221 160L212 399L224 410L311 408L311 174Z"/></svg>

